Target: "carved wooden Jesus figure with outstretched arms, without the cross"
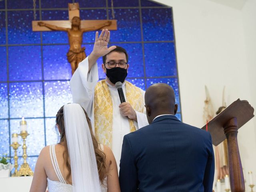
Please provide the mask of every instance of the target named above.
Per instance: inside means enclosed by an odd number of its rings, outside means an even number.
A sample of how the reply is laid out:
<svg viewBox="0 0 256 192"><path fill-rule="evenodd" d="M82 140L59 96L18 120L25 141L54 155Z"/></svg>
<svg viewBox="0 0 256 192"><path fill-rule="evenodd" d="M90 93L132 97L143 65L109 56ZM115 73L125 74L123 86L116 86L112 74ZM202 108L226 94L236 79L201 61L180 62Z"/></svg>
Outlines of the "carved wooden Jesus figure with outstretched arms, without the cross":
<svg viewBox="0 0 256 192"><path fill-rule="evenodd" d="M90 28L81 28L81 20L79 17L75 16L71 20L71 28L63 28L55 25L47 24L44 22L38 22L39 26L45 26L51 30L56 31L66 31L68 32L68 43L70 48L67 53L68 62L70 62L72 68L72 75L75 70L78 68L78 64L86 58L86 54L84 52L85 47L82 47L83 42L83 33L88 31L94 31L101 29L105 26L110 26L111 21L105 22L104 24L97 25Z"/></svg>

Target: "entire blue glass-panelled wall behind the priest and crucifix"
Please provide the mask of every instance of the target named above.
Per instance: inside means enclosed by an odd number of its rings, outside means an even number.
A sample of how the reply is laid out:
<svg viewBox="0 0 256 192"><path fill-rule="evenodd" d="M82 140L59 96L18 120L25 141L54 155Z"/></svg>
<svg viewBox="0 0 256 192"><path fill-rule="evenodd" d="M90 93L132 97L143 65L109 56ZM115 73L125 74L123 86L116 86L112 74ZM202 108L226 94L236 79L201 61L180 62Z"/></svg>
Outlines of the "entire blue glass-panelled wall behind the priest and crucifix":
<svg viewBox="0 0 256 192"><path fill-rule="evenodd" d="M36 1L37 20L68 20L72 0ZM111 0L78 0L83 20L112 19ZM129 82L146 90L158 82L176 92L181 119L178 71L172 8L149 0L113 0L118 30L111 32L110 45L124 47L129 54ZM31 0L0 1L0 155L14 152L10 136L19 132L22 116L28 123L28 162L32 169L40 150L57 142L56 112L72 102L70 64L66 60L66 32L32 32ZM86 54L93 48L95 32L84 33ZM98 60L100 79L105 78ZM21 139L20 139L21 143ZM18 151L19 163L22 150ZM13 158L12 158L13 162Z"/></svg>

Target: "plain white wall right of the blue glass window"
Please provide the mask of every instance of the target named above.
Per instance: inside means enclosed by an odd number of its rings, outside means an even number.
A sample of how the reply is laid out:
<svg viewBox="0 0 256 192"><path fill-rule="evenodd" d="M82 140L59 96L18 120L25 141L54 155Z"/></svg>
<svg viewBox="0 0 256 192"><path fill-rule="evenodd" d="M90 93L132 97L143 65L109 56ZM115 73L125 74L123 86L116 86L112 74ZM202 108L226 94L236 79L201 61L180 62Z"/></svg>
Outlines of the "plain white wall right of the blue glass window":
<svg viewBox="0 0 256 192"><path fill-rule="evenodd" d="M240 98L256 108L256 0L242 10L208 0L156 0L172 6L183 121L202 127L208 86L215 110ZM251 82L251 83L250 83ZM256 183L256 118L238 132L245 178Z"/></svg>

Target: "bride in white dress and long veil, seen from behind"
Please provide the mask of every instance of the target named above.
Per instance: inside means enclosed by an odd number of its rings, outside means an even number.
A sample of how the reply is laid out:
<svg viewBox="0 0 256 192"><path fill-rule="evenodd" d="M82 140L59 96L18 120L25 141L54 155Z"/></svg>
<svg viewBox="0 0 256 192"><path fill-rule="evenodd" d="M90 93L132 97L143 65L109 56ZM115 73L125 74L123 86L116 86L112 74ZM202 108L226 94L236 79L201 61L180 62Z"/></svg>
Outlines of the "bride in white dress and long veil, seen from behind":
<svg viewBox="0 0 256 192"><path fill-rule="evenodd" d="M30 192L120 192L116 160L98 144L86 111L66 104L56 115L60 143L46 146L36 162Z"/></svg>

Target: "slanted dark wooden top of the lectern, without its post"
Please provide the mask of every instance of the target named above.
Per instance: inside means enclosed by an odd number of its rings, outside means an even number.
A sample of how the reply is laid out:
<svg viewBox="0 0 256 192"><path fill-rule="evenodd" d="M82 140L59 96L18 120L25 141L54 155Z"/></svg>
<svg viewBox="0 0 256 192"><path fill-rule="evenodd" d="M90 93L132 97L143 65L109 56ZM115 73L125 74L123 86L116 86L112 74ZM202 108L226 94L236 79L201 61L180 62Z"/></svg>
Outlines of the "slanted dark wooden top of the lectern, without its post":
<svg viewBox="0 0 256 192"><path fill-rule="evenodd" d="M254 117L254 108L246 100L236 100L208 122L208 131L212 136L212 144L217 146L226 139L224 125L232 118L237 119L238 129ZM206 130L206 125L202 127Z"/></svg>

